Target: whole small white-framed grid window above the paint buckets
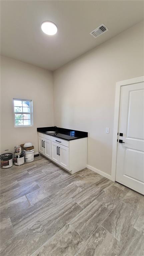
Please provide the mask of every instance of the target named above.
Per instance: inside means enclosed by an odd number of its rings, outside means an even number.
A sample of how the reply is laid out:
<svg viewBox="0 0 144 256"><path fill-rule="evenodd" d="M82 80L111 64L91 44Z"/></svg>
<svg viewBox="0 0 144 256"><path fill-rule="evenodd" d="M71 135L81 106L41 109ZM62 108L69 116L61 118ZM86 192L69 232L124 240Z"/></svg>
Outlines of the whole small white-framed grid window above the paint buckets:
<svg viewBox="0 0 144 256"><path fill-rule="evenodd" d="M33 126L32 100L13 99L14 126Z"/></svg>

